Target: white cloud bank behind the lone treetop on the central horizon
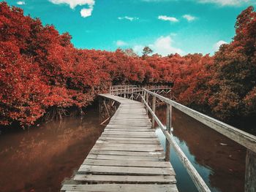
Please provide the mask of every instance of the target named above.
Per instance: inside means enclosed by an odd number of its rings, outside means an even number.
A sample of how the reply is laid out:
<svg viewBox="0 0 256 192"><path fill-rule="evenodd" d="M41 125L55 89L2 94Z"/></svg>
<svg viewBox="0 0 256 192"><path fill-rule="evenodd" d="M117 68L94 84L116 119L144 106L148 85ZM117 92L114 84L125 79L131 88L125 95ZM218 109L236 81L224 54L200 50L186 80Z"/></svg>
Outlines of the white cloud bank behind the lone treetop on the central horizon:
<svg viewBox="0 0 256 192"><path fill-rule="evenodd" d="M135 51L135 53L138 53L141 55L142 50L143 50L143 45L135 45L132 49ZM170 35L164 37L161 36L157 38L153 44L148 45L148 47L153 50L153 53L158 53L162 56L167 56L170 55L171 53L178 53L180 55L184 55L184 51L174 47L173 46L173 39L171 38Z"/></svg>

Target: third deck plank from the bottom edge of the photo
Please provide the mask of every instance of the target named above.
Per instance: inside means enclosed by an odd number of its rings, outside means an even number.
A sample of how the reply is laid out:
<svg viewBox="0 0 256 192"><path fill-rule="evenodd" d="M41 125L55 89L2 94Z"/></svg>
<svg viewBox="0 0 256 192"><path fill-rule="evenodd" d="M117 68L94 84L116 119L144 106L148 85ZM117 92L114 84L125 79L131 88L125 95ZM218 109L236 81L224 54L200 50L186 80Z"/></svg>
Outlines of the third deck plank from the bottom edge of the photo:
<svg viewBox="0 0 256 192"><path fill-rule="evenodd" d="M78 172L90 174L132 174L132 175L174 175L172 169L162 167L126 167L126 166L91 166L81 165Z"/></svg>

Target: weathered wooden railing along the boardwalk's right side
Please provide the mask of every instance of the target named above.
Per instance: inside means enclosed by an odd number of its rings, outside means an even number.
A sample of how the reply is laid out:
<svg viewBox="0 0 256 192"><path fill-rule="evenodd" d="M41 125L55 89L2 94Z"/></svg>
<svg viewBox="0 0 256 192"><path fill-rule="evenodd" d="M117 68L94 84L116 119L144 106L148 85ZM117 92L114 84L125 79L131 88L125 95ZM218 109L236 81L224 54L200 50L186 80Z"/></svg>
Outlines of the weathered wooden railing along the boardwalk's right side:
<svg viewBox="0 0 256 192"><path fill-rule="evenodd" d="M149 107L149 96L152 97L152 104ZM157 118L155 114L156 110L156 99L167 104L167 117L166 117L166 128L162 124L162 122ZM233 126L229 126L226 123L223 123L219 120L211 118L203 113L197 112L195 110L190 109L189 107L185 107L182 104L178 104L176 101L165 98L164 96L160 96L157 93L152 91L148 91L146 88L143 88L142 93L142 102L146 107L146 112L148 111L152 115L152 127L154 127L154 123L157 122L158 126L161 128L163 134L166 137L166 151L165 151L165 160L170 161L170 145L176 151L178 158L180 158L181 162L184 164L187 172L195 183L198 191L210 191L206 183L203 181L200 174L198 174L197 170L194 166L192 166L191 162L187 158L187 156L183 153L181 148L178 146L176 141L173 139L171 134L172 128L172 107L175 107L177 110L184 112L195 120L200 121L206 126L218 131L220 134L224 135L237 142L240 145L246 147L246 170L245 170L245 191L256 191L256 137L252 134L248 134L244 131L239 130Z"/></svg>

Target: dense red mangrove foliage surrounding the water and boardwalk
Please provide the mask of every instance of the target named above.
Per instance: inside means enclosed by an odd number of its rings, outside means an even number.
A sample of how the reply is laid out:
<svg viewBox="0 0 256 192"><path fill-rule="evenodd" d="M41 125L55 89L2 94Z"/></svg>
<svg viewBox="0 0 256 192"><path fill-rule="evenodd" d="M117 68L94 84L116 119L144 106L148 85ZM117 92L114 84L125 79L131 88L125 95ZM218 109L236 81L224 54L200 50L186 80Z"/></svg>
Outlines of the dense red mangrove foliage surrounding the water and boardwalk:
<svg viewBox="0 0 256 192"><path fill-rule="evenodd" d="M176 99L221 119L256 114L256 15L238 16L236 37L210 55L76 49L68 33L0 3L0 124L31 125L80 110L109 85L174 82Z"/></svg>

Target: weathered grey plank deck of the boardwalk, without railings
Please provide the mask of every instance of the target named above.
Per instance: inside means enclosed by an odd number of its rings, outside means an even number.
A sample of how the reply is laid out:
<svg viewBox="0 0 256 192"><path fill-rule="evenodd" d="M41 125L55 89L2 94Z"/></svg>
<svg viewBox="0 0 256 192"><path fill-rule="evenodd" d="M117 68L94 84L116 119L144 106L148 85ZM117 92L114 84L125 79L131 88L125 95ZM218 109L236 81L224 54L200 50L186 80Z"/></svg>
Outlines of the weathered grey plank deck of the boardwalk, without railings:
<svg viewBox="0 0 256 192"><path fill-rule="evenodd" d="M61 191L178 191L175 172L138 101L102 94L120 103L102 136Z"/></svg>

